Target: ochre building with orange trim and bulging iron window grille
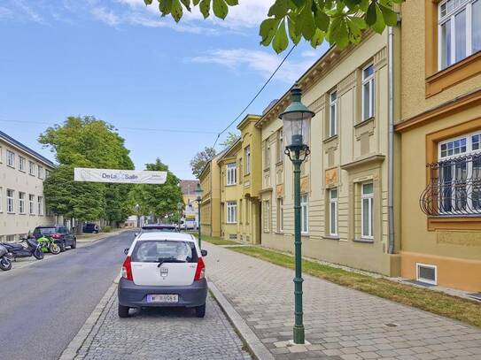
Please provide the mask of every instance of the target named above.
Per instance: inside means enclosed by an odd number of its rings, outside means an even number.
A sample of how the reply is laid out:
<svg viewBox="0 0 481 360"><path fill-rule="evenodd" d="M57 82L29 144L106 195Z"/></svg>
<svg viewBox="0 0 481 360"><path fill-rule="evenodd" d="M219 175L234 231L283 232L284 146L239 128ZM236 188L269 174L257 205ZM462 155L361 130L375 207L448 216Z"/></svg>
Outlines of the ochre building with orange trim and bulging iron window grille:
<svg viewBox="0 0 481 360"><path fill-rule="evenodd" d="M479 292L481 1L401 10L401 276Z"/></svg>

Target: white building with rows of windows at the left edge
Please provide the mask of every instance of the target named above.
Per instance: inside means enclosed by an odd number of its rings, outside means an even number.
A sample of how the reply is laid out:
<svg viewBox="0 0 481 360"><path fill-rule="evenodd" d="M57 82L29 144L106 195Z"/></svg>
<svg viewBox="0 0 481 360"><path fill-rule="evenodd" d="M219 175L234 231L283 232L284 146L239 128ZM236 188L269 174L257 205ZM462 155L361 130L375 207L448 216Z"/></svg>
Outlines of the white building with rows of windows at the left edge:
<svg viewBox="0 0 481 360"><path fill-rule="evenodd" d="M0 131L0 241L18 241L49 225L43 197L43 180L54 164Z"/></svg>

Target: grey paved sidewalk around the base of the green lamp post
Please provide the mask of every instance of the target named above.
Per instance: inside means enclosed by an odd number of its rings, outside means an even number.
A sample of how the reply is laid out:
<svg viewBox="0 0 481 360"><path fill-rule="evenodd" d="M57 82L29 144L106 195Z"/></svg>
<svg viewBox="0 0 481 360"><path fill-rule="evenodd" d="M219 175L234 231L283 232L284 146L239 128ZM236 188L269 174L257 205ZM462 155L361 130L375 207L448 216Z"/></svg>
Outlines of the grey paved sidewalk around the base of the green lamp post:
<svg viewBox="0 0 481 360"><path fill-rule="evenodd" d="M479 328L308 275L304 324L310 345L288 346L294 272L204 244L207 277L276 359L481 359Z"/></svg>

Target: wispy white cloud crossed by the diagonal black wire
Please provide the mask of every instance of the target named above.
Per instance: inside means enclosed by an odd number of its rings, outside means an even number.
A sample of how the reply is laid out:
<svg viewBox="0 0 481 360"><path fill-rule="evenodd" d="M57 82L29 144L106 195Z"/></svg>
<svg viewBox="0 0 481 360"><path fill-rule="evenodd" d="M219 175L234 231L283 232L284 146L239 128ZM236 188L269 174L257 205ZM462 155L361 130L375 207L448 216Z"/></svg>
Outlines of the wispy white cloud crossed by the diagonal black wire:
<svg viewBox="0 0 481 360"><path fill-rule="evenodd" d="M275 68L281 63L282 57L261 50L232 49L207 51L198 57L187 59L201 64L215 64L225 66L231 70L247 67L255 73L260 73L268 78ZM313 60L295 61L286 60L275 74L276 80L292 83L313 64Z"/></svg>

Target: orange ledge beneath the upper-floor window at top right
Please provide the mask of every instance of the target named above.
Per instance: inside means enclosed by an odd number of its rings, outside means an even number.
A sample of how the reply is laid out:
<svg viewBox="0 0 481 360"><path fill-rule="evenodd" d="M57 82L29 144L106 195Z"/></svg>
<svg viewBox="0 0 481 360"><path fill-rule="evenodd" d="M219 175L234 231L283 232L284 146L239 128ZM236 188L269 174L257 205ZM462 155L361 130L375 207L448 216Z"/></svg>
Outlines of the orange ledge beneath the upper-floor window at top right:
<svg viewBox="0 0 481 360"><path fill-rule="evenodd" d="M426 98L481 73L481 51L426 78Z"/></svg>

